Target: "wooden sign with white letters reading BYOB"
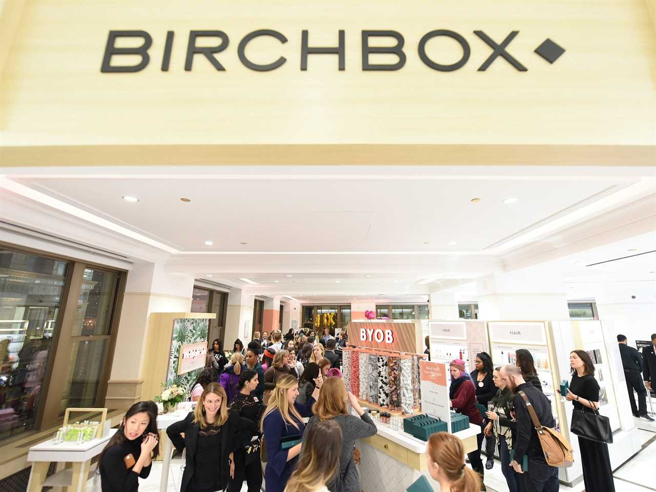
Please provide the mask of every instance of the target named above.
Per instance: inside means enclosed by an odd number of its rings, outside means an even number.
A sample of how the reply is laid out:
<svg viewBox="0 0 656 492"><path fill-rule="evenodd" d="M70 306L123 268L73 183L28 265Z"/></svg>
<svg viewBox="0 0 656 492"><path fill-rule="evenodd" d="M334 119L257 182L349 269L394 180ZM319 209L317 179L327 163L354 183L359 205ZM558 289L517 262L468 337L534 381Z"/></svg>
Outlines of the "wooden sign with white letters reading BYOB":
<svg viewBox="0 0 656 492"><path fill-rule="evenodd" d="M348 324L348 343L360 348L419 353L419 323L352 321Z"/></svg>

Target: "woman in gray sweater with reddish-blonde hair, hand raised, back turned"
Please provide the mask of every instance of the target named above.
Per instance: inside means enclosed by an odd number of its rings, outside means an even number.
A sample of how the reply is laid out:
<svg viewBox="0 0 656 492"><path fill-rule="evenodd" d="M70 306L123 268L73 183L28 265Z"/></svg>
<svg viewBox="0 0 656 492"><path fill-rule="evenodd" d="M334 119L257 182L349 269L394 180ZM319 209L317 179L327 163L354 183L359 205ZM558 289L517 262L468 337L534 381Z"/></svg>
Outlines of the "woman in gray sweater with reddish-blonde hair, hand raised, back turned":
<svg viewBox="0 0 656 492"><path fill-rule="evenodd" d="M359 417L348 411L347 401ZM314 416L310 418L303 434L301 459L306 453L308 436L312 428L319 422L335 422L342 430L342 447L339 455L339 470L327 483L328 489L331 492L359 492L360 478L353 451L356 439L376 434L378 431L376 424L371 420L369 412L360 407L358 398L353 393L346 392L346 386L341 378L327 378L323 381L319 399L312 411Z"/></svg>

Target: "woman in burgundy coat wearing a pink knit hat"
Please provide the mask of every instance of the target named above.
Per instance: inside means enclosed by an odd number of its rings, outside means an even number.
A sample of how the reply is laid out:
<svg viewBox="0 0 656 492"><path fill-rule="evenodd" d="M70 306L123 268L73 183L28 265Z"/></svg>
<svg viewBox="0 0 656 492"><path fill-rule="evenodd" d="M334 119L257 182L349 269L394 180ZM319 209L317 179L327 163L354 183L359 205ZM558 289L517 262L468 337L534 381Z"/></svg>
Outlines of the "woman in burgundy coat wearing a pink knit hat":
<svg viewBox="0 0 656 492"><path fill-rule="evenodd" d="M449 388L449 398L451 399L451 408L457 413L469 417L470 424L483 424L483 417L476 409L476 386L472 378L464 370L464 361L462 359L453 359L449 365L451 370L451 388ZM478 447L475 451L468 453L469 461L474 468L474 472L481 476L481 490L485 490L483 485L483 460L481 459L481 444L483 443L483 429L476 436Z"/></svg>

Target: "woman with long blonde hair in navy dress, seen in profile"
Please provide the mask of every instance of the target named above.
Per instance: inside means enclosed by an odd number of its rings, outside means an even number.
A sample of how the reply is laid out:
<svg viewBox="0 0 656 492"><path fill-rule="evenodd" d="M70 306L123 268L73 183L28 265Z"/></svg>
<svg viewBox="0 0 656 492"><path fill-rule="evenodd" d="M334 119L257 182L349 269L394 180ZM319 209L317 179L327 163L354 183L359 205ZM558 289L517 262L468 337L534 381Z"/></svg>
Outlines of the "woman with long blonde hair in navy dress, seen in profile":
<svg viewBox="0 0 656 492"><path fill-rule="evenodd" d="M283 492L297 464L300 440L305 430L303 417L312 415L312 405L318 399L319 388L323 384L321 374L314 382L316 388L305 405L295 401L298 381L291 374L281 375L276 388L271 391L260 424L268 456L264 472L266 492Z"/></svg>

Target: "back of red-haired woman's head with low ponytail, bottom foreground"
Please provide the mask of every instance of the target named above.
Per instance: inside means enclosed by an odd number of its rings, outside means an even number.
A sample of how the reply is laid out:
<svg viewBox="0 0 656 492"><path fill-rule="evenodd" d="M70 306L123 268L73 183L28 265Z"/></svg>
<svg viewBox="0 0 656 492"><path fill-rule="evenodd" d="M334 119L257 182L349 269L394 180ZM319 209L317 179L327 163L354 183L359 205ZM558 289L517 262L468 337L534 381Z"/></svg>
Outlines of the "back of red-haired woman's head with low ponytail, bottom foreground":
<svg viewBox="0 0 656 492"><path fill-rule="evenodd" d="M447 432L433 434L426 443L428 472L440 483L440 492L478 492L480 476L464 463L462 441Z"/></svg>

